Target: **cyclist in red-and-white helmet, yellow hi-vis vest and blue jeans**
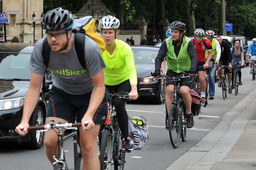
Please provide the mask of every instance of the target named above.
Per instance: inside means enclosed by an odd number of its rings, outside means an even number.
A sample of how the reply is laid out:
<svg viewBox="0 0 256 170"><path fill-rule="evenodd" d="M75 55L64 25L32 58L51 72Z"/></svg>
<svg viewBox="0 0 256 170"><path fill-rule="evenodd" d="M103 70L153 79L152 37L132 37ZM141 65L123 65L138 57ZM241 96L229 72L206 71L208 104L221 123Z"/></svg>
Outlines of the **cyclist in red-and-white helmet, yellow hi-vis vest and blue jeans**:
<svg viewBox="0 0 256 170"><path fill-rule="evenodd" d="M212 30L207 30L206 31L206 38L211 42L212 44L212 58L215 60L215 63L217 65L219 65L219 61L220 61L220 53L221 53L221 49L220 49L220 43L213 38L213 36L215 35L215 32ZM208 58L208 51L205 51L205 56L206 58ZM216 70L216 66L214 65L214 67L212 68L212 71L209 72L209 95L210 95L210 100L214 99L214 94L215 94L215 71Z"/></svg>

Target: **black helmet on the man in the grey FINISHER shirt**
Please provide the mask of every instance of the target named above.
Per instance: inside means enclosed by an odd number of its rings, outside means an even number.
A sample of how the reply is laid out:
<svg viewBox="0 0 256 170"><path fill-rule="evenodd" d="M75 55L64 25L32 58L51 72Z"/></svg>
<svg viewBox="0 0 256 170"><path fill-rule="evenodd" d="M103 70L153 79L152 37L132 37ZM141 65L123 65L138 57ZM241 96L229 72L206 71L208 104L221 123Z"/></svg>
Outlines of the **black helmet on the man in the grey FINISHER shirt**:
<svg viewBox="0 0 256 170"><path fill-rule="evenodd" d="M68 10L61 7L46 12L42 18L42 28L46 31L56 31L59 29L71 29L74 18Z"/></svg>

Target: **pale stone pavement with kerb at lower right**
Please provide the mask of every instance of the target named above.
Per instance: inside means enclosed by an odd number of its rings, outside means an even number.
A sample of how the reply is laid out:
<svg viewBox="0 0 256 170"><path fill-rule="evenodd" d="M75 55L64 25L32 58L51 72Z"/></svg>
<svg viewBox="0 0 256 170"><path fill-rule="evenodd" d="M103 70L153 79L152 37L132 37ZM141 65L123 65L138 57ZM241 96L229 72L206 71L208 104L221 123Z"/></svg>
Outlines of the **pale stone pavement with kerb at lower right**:
<svg viewBox="0 0 256 170"><path fill-rule="evenodd" d="M256 170L256 88L166 170Z"/></svg>

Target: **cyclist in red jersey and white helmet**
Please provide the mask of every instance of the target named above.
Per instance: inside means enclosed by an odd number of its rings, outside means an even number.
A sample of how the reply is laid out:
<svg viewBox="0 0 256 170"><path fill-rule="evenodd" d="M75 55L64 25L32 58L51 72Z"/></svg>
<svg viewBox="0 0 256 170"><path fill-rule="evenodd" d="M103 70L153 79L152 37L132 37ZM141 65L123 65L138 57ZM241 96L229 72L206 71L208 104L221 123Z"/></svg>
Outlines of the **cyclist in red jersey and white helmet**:
<svg viewBox="0 0 256 170"><path fill-rule="evenodd" d="M204 30L203 29L196 29L194 32L195 38L192 39L194 43L194 47L196 49L197 54L197 68L198 76L200 80L200 91L201 91L201 98L202 103L206 102L205 98L205 89L206 89L206 82L205 82L205 74L206 68L208 68L209 62L212 58L212 45L208 39L204 38ZM208 51L208 58L205 59L205 51Z"/></svg>

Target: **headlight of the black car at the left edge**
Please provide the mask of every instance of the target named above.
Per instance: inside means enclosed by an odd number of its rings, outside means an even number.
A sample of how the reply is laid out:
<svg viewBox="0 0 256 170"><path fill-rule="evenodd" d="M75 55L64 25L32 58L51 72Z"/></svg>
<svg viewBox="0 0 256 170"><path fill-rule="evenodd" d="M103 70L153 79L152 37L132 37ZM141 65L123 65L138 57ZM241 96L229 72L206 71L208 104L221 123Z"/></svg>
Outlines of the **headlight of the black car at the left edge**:
<svg viewBox="0 0 256 170"><path fill-rule="evenodd" d="M24 105L24 99L25 97L0 100L0 110L8 110L22 107Z"/></svg>

